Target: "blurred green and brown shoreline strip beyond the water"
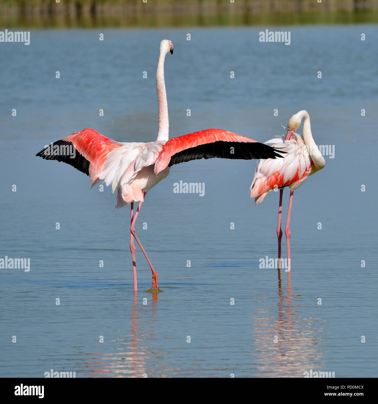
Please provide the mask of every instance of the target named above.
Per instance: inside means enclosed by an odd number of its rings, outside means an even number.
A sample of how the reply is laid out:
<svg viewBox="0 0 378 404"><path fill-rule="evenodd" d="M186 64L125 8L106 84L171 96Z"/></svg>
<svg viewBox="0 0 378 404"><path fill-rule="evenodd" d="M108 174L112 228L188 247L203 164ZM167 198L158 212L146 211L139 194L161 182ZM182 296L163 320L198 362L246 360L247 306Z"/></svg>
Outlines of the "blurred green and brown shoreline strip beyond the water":
<svg viewBox="0 0 378 404"><path fill-rule="evenodd" d="M377 22L378 0L0 0L0 27L4 28Z"/></svg>

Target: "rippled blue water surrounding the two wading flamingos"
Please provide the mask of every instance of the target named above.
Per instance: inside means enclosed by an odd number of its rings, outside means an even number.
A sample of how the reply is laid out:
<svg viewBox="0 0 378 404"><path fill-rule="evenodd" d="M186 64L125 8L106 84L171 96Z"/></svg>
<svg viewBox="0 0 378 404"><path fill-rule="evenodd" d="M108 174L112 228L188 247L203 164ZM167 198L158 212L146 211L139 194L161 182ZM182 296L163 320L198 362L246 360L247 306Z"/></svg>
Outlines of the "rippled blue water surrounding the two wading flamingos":
<svg viewBox="0 0 378 404"><path fill-rule="evenodd" d="M36 30L29 46L1 44L0 258L30 258L29 272L0 269L1 377L377 375L378 29L286 27L285 46L259 42L265 28ZM266 141L306 109L315 142L334 146L294 193L289 278L259 268L277 254L279 194L249 199L254 161L179 164L149 192L136 229L163 290L152 296L139 248L133 292L129 207L35 157L87 127L155 140L164 38L171 137L218 127ZM205 195L174 194L180 180Z"/></svg>

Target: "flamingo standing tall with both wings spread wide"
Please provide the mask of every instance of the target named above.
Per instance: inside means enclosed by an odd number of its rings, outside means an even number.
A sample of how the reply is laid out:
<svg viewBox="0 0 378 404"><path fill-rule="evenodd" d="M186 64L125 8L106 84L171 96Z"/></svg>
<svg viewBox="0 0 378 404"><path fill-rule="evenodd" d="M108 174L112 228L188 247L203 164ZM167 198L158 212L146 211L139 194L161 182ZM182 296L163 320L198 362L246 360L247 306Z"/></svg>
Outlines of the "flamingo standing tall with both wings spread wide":
<svg viewBox="0 0 378 404"><path fill-rule="evenodd" d="M276 150L245 136L222 129L207 129L169 139L168 104L164 82L165 56L173 53L169 40L160 42L160 56L156 71L159 124L158 137L154 142L123 143L101 135L93 129L72 133L47 146L36 156L46 160L63 161L89 175L92 187L99 180L117 189L116 208L131 205L130 250L133 259L134 290L137 290L137 271L134 239L137 240L152 271L152 288L159 292L158 274L135 232L135 222L147 192L167 177L173 164L201 158L230 158L249 160L253 158L282 157ZM67 153L74 148L75 157ZM60 149L59 149L60 148ZM134 202L139 202L134 214Z"/></svg>

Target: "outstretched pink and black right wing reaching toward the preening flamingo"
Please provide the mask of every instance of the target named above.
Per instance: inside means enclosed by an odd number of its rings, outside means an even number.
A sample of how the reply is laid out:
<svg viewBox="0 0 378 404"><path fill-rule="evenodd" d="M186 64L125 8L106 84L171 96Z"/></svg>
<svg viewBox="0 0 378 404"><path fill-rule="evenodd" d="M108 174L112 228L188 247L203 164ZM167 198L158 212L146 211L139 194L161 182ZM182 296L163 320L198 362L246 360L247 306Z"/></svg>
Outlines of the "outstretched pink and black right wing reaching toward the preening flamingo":
<svg viewBox="0 0 378 404"><path fill-rule="evenodd" d="M253 158L283 157L276 149L248 137L222 129L206 129L174 137L165 143L155 163L155 174L167 166L201 158Z"/></svg>

